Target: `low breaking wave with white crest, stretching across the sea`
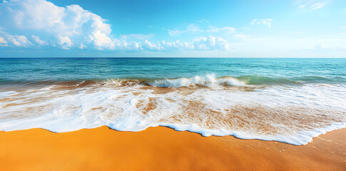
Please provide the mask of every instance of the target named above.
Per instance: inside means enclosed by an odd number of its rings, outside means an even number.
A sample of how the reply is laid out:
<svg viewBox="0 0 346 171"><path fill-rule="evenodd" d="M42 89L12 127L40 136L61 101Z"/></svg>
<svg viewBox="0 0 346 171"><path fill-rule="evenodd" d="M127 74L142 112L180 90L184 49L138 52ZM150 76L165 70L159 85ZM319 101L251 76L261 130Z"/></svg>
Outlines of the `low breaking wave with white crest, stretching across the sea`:
<svg viewBox="0 0 346 171"><path fill-rule="evenodd" d="M268 76L240 76L216 77L214 74L194 76L191 78L114 78L106 80L81 80L81 81L16 81L0 80L0 88L6 87L42 87L66 86L66 88L80 88L87 86L156 86L163 88L180 87L209 87L220 86L295 86L308 83L344 83L343 78L323 78L316 76L302 76L295 78L272 78Z"/></svg>

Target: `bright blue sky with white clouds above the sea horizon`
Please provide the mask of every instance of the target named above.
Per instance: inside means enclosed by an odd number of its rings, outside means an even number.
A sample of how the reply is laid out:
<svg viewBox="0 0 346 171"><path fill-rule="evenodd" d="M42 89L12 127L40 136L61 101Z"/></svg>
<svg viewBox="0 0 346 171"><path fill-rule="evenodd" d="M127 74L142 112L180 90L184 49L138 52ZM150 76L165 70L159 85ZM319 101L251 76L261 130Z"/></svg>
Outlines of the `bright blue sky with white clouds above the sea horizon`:
<svg viewBox="0 0 346 171"><path fill-rule="evenodd" d="M346 58L345 0L0 0L0 58Z"/></svg>

